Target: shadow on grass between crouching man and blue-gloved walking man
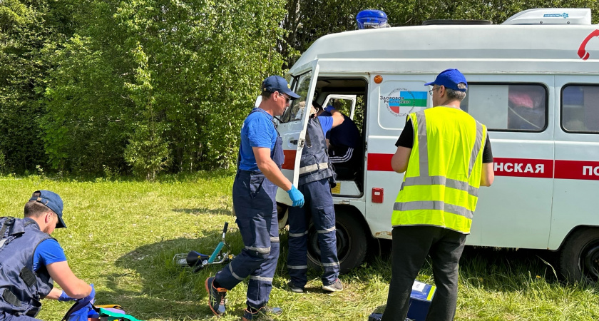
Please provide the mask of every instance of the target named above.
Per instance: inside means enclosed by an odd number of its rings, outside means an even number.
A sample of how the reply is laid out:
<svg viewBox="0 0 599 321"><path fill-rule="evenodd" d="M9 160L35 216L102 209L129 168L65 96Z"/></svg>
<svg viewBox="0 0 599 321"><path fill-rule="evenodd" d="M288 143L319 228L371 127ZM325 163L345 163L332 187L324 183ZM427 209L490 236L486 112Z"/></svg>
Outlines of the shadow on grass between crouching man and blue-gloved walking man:
<svg viewBox="0 0 599 321"><path fill-rule="evenodd" d="M98 302L110 301L125 307L140 320L205 320L213 317L206 293L205 277L224 265L211 265L198 273L173 263L177 253L197 250L210 255L220 242L220 233L204 230L204 238L178 238L143 245L121 256L116 266L129 270L107 276L110 291ZM229 236L227 235L227 241ZM235 253L236 254L236 253ZM201 284L200 284L201 283Z"/></svg>

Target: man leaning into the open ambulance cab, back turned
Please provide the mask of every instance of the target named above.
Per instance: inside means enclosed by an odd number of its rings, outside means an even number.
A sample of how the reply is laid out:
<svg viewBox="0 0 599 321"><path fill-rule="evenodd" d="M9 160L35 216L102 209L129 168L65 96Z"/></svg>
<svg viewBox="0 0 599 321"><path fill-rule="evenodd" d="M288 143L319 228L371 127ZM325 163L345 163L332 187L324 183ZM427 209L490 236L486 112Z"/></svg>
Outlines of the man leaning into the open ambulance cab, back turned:
<svg viewBox="0 0 599 321"><path fill-rule="evenodd" d="M320 107L316 103L314 106ZM332 128L341 125L344 118L342 113L332 107L327 108L327 112L332 116L316 116L317 110L312 108L297 183L299 191L306 198L306 206L289 209L287 270L291 278L290 290L298 293L304 292L307 283L307 230L310 218L317 230L320 263L324 270L321 277L322 289L331 292L343 290L338 278L335 211L329 185L334 180L334 172L327 155L325 136Z"/></svg>

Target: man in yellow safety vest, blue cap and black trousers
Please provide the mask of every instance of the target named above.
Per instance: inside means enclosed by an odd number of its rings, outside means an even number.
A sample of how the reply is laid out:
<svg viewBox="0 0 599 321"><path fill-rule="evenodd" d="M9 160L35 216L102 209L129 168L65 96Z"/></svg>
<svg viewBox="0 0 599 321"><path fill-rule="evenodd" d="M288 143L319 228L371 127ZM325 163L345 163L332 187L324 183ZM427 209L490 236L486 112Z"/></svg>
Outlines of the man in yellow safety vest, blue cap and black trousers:
<svg viewBox="0 0 599 321"><path fill-rule="evenodd" d="M393 206L392 277L382 321L406 319L414 278L431 255L437 287L426 320L453 320L458 262L464 250L478 187L493 183L487 129L460 109L468 83L457 69L439 73L434 108L409 114L391 167L404 173Z"/></svg>

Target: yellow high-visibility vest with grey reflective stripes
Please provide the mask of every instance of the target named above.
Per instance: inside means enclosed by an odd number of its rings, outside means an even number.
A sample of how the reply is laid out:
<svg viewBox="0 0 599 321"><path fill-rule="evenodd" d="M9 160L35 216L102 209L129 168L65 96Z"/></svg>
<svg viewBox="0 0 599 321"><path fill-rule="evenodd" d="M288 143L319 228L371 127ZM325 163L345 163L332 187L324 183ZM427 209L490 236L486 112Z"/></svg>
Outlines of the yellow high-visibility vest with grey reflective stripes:
<svg viewBox="0 0 599 321"><path fill-rule="evenodd" d="M414 146L391 225L434 225L470 233L481 185L486 126L457 108L410 113Z"/></svg>

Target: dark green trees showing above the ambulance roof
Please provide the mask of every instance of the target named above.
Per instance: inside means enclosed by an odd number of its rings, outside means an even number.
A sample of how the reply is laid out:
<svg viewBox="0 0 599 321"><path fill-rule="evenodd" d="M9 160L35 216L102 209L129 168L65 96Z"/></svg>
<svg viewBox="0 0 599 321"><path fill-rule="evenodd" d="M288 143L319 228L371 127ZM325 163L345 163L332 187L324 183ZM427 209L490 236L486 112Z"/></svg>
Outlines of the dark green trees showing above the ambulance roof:
<svg viewBox="0 0 599 321"><path fill-rule="evenodd" d="M486 19L501 24L513 14L534 8L590 8L593 23L599 22L599 1L595 0L287 0L285 8L287 33L280 50L286 68L321 36L356 30L356 14L364 9L385 11L391 26L418 26L433 19Z"/></svg>

